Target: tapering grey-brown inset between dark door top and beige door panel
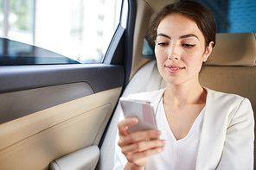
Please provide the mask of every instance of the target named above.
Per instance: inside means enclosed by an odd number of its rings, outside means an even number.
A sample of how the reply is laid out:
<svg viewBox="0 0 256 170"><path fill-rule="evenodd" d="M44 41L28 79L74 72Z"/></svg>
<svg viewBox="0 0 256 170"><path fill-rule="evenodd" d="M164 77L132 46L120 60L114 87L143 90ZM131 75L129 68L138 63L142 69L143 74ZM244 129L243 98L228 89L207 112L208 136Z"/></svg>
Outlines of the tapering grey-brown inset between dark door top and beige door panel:
<svg viewBox="0 0 256 170"><path fill-rule="evenodd" d="M0 103L2 113L0 123L91 94L93 94L91 86L82 82L6 92L0 95L0 101L3 101Z"/></svg>

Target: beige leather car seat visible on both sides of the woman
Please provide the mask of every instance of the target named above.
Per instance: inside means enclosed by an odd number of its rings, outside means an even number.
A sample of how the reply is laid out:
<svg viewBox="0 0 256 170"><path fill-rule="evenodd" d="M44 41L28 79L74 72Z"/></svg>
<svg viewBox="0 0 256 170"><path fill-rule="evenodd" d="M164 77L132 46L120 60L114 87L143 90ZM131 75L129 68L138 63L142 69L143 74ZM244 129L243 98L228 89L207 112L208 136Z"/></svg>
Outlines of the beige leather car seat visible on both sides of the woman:
<svg viewBox="0 0 256 170"><path fill-rule="evenodd" d="M215 91L235 93L249 98L256 111L256 41L253 33L218 34L213 53L200 72L202 86ZM132 77L123 96L166 86L156 61L152 60ZM112 117L105 141L100 149L97 169L112 169L114 143L120 113L118 106ZM255 116L254 116L255 117Z"/></svg>

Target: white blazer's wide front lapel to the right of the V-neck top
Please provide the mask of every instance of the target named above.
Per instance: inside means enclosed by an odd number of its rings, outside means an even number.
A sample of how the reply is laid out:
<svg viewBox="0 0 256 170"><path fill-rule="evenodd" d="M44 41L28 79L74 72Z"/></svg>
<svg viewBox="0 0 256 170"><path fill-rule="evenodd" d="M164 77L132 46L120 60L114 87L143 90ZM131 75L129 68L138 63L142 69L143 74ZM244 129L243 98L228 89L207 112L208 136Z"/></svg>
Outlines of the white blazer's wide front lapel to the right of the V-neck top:
<svg viewBox="0 0 256 170"><path fill-rule="evenodd" d="M227 129L227 99L220 92L208 91L196 170L216 169L221 160Z"/></svg>

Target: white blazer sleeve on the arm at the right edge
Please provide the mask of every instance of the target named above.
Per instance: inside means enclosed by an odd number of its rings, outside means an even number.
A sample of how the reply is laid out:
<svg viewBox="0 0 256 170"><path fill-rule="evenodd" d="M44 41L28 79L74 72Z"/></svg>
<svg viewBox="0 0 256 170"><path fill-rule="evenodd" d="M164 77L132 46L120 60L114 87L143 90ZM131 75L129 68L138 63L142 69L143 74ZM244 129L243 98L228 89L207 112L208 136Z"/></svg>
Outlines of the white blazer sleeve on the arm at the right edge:
<svg viewBox="0 0 256 170"><path fill-rule="evenodd" d="M244 99L227 128L226 141L218 170L253 170L254 148L253 109Z"/></svg>

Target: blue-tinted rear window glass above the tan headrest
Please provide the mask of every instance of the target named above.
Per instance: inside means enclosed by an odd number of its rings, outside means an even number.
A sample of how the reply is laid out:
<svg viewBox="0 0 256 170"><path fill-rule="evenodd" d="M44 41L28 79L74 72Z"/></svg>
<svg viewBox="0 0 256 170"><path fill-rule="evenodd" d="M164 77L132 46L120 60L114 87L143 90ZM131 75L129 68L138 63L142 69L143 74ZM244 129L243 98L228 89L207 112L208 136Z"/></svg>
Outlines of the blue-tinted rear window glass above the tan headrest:
<svg viewBox="0 0 256 170"><path fill-rule="evenodd" d="M217 33L256 33L255 0L194 0L214 15Z"/></svg>

